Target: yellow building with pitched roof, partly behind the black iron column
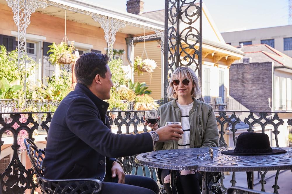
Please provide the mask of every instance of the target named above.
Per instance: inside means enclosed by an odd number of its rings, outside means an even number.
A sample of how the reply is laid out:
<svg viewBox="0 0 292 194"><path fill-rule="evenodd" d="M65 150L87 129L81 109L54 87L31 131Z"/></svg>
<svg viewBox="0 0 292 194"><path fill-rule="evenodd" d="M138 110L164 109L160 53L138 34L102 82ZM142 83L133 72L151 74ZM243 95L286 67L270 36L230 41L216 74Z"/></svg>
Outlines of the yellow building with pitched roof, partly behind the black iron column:
<svg viewBox="0 0 292 194"><path fill-rule="evenodd" d="M127 4L127 10L133 11L133 1L136 2L136 9L134 13L140 13L141 16L147 17L158 22L164 23L164 10L157 10L152 12L143 13L143 4L140 0L131 0L131 4ZM147 3L147 2L145 2ZM139 7L140 6L140 7ZM223 37L218 31L213 19L211 18L206 5L202 4L202 97L205 102L215 105L215 99L220 97L223 103L227 106L229 102L234 102L233 99L229 97L229 68L230 65L235 61L243 57L243 52L225 43ZM191 11L191 10L188 10ZM194 10L195 12L195 10ZM196 26L197 25L197 26ZM195 27L199 29L199 22ZM186 28L187 25L183 22L180 24L180 29ZM155 69L152 73L152 79L150 75L143 74L138 76L135 74L134 80L140 82L146 82L150 85L150 90L153 90L153 96L157 99L164 97L164 55L159 53L159 44L157 40L153 38L148 38L145 40L145 47L148 54L148 58L152 58L158 61L159 68ZM192 38L189 38L189 41ZM144 42L137 42L134 47L134 55L141 56L144 50ZM144 54L144 58L145 58ZM184 60L181 58L181 60ZM192 64L190 67L195 70L196 65ZM153 76L154 75L154 76ZM150 84L151 82L151 84ZM231 104L231 103L230 103ZM234 103L236 104L236 103ZM239 109L240 106L227 107L227 109ZM215 108L215 106L214 106ZM217 107L218 108L218 107Z"/></svg>

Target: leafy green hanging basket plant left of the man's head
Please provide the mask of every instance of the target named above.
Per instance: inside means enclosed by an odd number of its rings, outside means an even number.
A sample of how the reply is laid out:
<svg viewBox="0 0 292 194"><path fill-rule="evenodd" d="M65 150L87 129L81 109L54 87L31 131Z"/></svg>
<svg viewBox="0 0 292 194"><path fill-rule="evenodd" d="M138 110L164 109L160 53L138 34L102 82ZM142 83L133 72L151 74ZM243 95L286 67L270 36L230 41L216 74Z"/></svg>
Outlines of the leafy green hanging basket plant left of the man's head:
<svg viewBox="0 0 292 194"><path fill-rule="evenodd" d="M50 50L48 53L49 61L52 64L72 64L74 63L76 56L74 55L74 41L71 41L71 44L68 46L66 42L61 42L60 44L56 44L53 42L52 45L48 46Z"/></svg>

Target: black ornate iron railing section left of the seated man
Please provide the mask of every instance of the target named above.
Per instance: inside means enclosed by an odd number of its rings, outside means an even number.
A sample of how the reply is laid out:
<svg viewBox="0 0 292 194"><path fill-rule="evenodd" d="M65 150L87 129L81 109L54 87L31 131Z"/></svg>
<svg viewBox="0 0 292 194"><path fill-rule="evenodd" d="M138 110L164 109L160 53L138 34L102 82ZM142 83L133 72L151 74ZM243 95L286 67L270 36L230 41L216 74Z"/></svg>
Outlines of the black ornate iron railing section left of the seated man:
<svg viewBox="0 0 292 194"><path fill-rule="evenodd" d="M23 138L28 137L34 140L34 132L39 127L39 123L36 121L38 114L40 113L0 113L0 148L5 141L9 141L9 138L13 139L11 162L0 175L2 193L24 193L27 189L34 191L37 187L33 181L33 170L25 169L19 156L23 151L21 147ZM45 119L50 121L50 118L51 113L46 113ZM22 132L23 130L25 133Z"/></svg>

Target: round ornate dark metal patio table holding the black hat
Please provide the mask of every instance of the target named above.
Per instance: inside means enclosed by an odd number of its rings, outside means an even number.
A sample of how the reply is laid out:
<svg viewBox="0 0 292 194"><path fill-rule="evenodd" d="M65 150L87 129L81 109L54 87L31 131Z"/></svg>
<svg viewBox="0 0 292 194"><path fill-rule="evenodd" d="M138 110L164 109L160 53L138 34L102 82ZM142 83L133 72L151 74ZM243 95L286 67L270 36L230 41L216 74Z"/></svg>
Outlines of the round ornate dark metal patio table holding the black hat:
<svg viewBox="0 0 292 194"><path fill-rule="evenodd" d="M273 147L274 149L286 150L287 153L285 154L260 156L225 155L221 154L221 152L234 149L234 147L212 148L213 160L209 154L203 155L209 152L209 148L204 147L147 152L139 154L135 158L135 162L150 167L169 169L171 172L171 188L173 194L177 194L174 180L176 171L178 170L199 170L203 175L202 191L204 194L211 193L212 184L216 182L216 176L219 172L245 171L247 174L248 188L253 189L253 171L292 169L291 147Z"/></svg>

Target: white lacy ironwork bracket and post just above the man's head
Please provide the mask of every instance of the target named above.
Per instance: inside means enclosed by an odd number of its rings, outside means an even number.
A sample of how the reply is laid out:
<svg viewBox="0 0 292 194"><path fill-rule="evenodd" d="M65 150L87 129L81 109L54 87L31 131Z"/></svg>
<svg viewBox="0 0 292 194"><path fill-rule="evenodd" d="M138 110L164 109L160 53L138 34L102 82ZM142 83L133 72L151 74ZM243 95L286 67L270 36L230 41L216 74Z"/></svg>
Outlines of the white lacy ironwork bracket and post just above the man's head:
<svg viewBox="0 0 292 194"><path fill-rule="evenodd" d="M120 28L126 27L126 24L119 22L119 19L112 17L92 14L95 22L100 23L101 28L105 32L105 40L107 42L107 55L111 60L114 57L114 42L116 41L116 33Z"/></svg>

